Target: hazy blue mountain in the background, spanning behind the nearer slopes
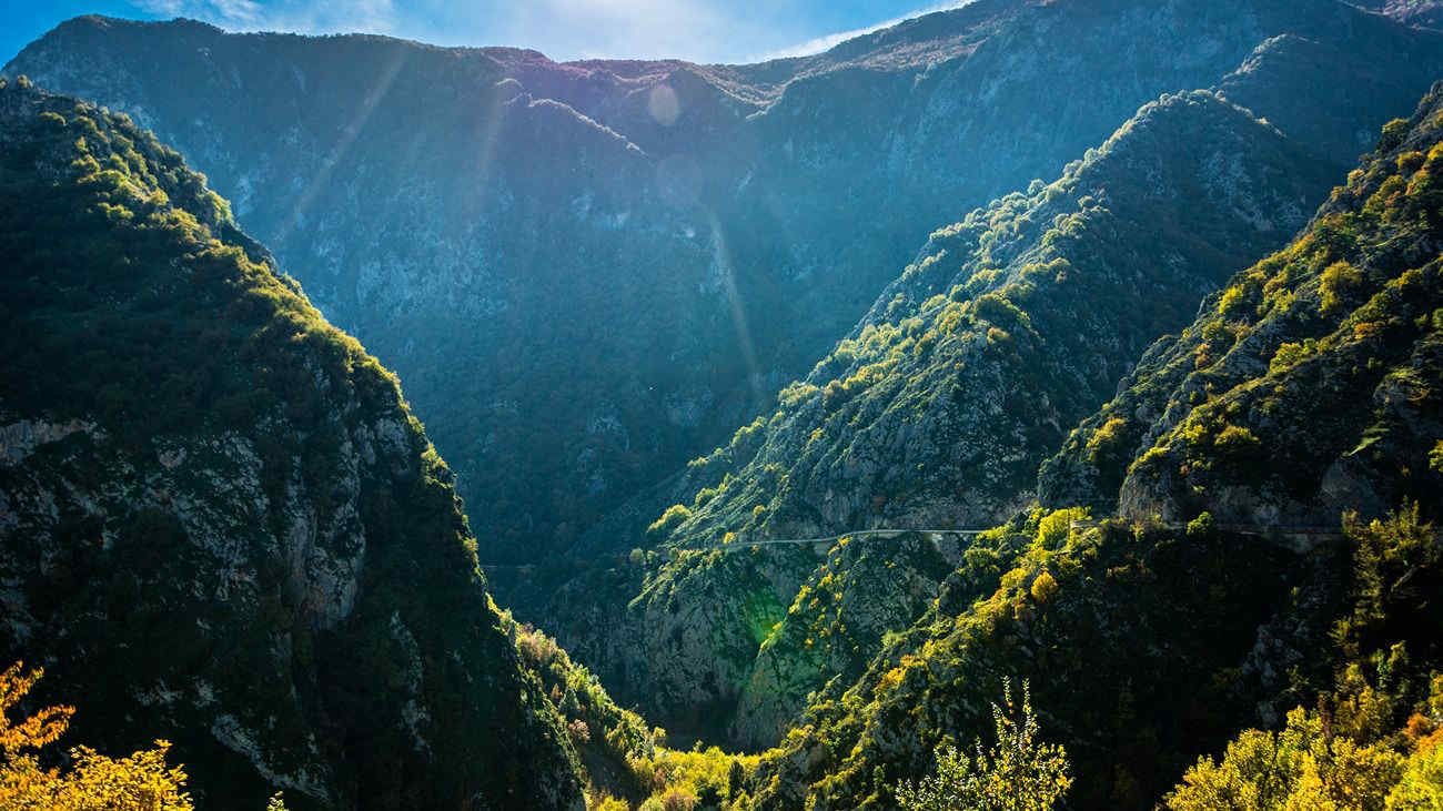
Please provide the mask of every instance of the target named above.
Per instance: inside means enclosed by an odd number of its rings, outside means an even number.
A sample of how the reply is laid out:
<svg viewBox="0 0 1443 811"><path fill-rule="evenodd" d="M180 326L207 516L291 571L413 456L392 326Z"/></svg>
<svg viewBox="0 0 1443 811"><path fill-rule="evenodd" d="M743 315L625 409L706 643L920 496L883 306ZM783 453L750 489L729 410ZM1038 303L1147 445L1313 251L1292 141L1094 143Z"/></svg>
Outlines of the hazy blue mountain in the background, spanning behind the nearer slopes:
<svg viewBox="0 0 1443 811"><path fill-rule="evenodd" d="M768 407L926 228L1283 33L1394 65L1343 82L1369 133L1440 63L1333 0L983 0L745 66L89 17L6 72L203 166L404 375L488 560L535 561Z"/></svg>

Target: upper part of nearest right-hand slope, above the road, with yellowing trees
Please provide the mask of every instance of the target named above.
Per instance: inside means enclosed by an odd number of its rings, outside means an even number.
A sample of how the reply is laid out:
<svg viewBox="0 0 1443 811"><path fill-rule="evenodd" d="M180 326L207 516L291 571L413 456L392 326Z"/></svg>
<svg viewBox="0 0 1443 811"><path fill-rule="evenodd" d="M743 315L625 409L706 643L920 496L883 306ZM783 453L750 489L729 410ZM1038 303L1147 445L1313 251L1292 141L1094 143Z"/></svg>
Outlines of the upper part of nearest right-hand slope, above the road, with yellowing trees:
<svg viewBox="0 0 1443 811"><path fill-rule="evenodd" d="M1286 251L1160 341L1042 469L1045 502L1336 527L1443 491L1439 95Z"/></svg>

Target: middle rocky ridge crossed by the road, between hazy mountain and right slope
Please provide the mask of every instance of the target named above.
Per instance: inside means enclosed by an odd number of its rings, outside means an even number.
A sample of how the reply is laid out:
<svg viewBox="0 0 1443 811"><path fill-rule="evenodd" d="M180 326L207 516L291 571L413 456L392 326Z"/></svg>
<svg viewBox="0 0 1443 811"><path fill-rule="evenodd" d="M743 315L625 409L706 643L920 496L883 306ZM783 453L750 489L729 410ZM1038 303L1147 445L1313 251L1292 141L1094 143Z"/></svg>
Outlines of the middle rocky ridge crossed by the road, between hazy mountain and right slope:
<svg viewBox="0 0 1443 811"><path fill-rule="evenodd" d="M746 541L1012 515L1063 426L1186 323L1199 291L1281 245L1329 175L1214 94L1144 105L1055 183L934 234L775 414L691 463L696 495L652 543L739 551L681 553L622 583L625 596L583 580L550 622L654 719L691 730L734 713L737 742L775 740L808 691L859 675L926 606L958 550L859 541L820 561ZM870 543L886 545L861 551ZM869 586L848 600L848 582Z"/></svg>

